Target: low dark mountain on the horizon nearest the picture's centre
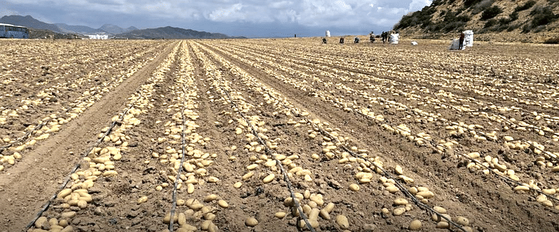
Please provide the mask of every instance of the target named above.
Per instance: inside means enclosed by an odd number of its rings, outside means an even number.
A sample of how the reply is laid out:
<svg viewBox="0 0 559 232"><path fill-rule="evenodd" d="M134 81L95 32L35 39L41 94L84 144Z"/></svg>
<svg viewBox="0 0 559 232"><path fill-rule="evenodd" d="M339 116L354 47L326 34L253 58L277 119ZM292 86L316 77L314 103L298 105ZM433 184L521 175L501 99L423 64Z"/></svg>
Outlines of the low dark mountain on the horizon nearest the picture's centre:
<svg viewBox="0 0 559 232"><path fill-rule="evenodd" d="M115 37L127 39L232 39L245 37L229 37L220 33L200 32L197 30L173 28L150 28L144 30L133 30L131 32L115 35Z"/></svg>

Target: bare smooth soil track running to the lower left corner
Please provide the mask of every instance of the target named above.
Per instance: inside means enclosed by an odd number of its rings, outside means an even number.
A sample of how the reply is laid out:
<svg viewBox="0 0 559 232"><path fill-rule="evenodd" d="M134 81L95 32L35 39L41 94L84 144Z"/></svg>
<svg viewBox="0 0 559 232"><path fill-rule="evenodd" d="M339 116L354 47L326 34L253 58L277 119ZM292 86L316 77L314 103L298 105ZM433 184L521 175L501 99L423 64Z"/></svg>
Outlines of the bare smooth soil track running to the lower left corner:
<svg viewBox="0 0 559 232"><path fill-rule="evenodd" d="M25 228L41 206L58 189L71 167L78 161L84 149L97 139L97 132L110 122L115 112L122 109L135 90L144 83L151 72L171 52L172 43L150 64L126 79L111 93L77 119L70 122L60 133L41 143L17 166L2 173L0 178L0 231L19 231ZM67 155L70 154L70 155Z"/></svg>

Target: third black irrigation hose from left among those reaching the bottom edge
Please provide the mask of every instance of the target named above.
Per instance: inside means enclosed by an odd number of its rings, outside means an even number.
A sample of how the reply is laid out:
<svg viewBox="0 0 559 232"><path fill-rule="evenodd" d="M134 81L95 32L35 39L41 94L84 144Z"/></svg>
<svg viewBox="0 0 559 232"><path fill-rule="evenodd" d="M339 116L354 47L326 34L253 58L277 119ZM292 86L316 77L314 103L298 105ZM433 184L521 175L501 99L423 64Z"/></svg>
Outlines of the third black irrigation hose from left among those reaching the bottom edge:
<svg viewBox="0 0 559 232"><path fill-rule="evenodd" d="M299 201L295 197L295 193L293 192L293 186L291 184L291 181L289 180L289 177L287 176L287 172L285 171L285 168L283 168L283 165L281 165L281 162L276 158L276 155L274 155L272 153L272 151L269 150L267 144L260 137L260 135L258 135L258 132L256 131L256 129L254 129L254 126L252 126L252 123L250 123L249 119L247 119L245 117L245 115L243 115L243 113L240 112L240 110L238 110L239 108L238 108L237 104L233 101L233 99L231 98L229 93L227 93L227 90L225 90L225 88L223 88L222 86L220 86L220 88L225 93L225 95L227 95L227 97L229 98L229 101L231 101L231 105L234 106L237 109L237 112L240 115L240 117L243 117L243 119L245 119L247 124L250 126L250 128L252 130L252 134L255 137L258 138L258 142L260 142L260 144L262 144L262 146L264 146L264 151L265 151L266 155L269 155L270 157L273 157L274 160L276 161L276 164L278 164L278 166L280 167L281 174L283 175L283 181L285 181L287 183L287 189L289 189L289 191L290 191L290 195L293 199L293 202L295 203L295 207L297 208L297 211L299 211L299 215L301 215L301 218L303 218L303 221L305 222L305 224L307 226L307 229L309 229L312 232L315 232L314 228L312 228L309 220L307 219L307 216L303 212L303 208L301 208L301 204L299 204Z"/></svg>

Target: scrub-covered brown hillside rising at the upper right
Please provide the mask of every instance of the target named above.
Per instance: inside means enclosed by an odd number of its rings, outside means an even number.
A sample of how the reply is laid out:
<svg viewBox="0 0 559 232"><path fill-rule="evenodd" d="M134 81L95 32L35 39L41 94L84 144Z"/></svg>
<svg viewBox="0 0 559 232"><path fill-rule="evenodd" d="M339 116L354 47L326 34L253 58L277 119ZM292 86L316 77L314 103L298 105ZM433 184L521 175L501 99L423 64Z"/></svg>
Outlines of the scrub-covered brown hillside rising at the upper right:
<svg viewBox="0 0 559 232"><path fill-rule="evenodd" d="M509 40L515 36L533 39L559 33L558 19L559 0L435 0L402 17L394 29L435 37L474 30L476 34L510 35Z"/></svg>

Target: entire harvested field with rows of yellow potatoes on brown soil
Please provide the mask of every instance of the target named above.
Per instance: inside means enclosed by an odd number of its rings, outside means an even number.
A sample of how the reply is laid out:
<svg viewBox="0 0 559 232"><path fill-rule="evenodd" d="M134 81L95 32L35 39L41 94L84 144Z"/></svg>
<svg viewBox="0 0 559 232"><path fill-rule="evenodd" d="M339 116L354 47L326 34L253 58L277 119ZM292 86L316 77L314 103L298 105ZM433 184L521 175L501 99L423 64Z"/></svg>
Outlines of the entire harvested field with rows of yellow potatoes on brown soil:
<svg viewBox="0 0 559 232"><path fill-rule="evenodd" d="M559 47L1 40L1 231L559 231ZM362 39L365 41L365 39Z"/></svg>

